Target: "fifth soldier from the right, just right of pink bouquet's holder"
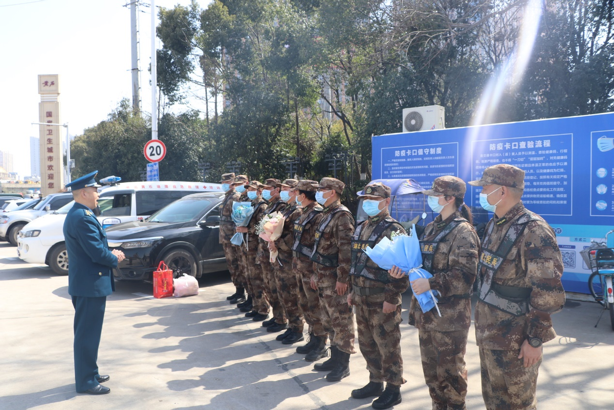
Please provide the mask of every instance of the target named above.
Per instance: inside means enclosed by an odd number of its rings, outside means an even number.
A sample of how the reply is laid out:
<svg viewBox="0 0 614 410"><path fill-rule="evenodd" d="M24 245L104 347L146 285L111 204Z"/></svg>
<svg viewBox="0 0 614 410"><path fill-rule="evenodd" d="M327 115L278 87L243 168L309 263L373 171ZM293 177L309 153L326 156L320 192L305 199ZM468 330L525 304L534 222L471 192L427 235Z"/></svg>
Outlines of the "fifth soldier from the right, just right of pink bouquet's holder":
<svg viewBox="0 0 614 410"><path fill-rule="evenodd" d="M298 181L296 201L302 206L300 218L293 226L292 244L292 270L296 274L298 283L298 306L303 314L305 322L309 325L309 341L304 346L297 347L297 353L304 354L307 362L325 357L325 349L328 333L322 325L322 306L317 292L316 279L313 271L313 245L317 225L322 217L322 206L316 202L317 181Z"/></svg>

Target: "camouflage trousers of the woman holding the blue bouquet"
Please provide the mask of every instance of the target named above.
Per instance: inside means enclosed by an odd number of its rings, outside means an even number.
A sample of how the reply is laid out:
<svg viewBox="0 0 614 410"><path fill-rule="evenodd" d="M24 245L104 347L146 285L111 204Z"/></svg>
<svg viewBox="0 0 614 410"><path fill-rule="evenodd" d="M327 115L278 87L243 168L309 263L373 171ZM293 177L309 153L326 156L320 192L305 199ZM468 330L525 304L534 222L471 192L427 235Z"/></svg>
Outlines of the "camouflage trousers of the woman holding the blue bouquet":
<svg viewBox="0 0 614 410"><path fill-rule="evenodd" d="M469 330L419 330L424 380L433 410L464 410L467 396L465 350Z"/></svg>

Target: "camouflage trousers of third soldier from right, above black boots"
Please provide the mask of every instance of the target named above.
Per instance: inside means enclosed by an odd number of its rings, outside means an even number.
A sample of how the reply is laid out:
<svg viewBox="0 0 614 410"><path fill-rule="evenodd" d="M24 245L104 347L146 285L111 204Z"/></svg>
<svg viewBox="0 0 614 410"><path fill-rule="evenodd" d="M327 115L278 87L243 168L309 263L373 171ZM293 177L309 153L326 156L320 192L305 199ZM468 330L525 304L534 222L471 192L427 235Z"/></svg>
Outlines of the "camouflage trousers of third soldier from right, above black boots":
<svg viewBox="0 0 614 410"><path fill-rule="evenodd" d="M369 381L400 386L403 379L401 357L401 305L391 313L382 312L382 304L354 305L360 353L367 361Z"/></svg>

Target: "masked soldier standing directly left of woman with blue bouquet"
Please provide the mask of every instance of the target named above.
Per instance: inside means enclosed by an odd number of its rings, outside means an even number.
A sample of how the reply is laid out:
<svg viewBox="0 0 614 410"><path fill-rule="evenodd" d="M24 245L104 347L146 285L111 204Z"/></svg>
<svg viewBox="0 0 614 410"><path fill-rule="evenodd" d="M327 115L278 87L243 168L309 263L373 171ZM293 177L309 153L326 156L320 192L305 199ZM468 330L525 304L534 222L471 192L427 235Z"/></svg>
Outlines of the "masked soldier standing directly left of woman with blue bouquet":
<svg viewBox="0 0 614 410"><path fill-rule="evenodd" d="M367 361L369 382L361 389L352 390L352 397L379 396L373 408L387 409L401 402L400 387L403 379L401 357L401 293L410 285L406 275L392 277L379 268L364 250L373 248L382 238L391 238L393 232L405 230L388 212L391 190L381 183L367 185L359 196L368 219L362 222L352 236L352 267L349 275L352 287L348 304L354 305L358 344ZM384 390L386 381L386 390Z"/></svg>

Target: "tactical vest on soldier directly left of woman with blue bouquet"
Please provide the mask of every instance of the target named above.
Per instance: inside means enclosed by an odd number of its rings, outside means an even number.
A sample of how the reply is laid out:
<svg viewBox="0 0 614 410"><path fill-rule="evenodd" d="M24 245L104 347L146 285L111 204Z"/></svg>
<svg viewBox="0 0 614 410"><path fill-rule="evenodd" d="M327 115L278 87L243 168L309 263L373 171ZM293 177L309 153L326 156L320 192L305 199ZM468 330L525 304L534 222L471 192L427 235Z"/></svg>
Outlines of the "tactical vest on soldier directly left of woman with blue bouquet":
<svg viewBox="0 0 614 410"><path fill-rule="evenodd" d="M378 225L375 227L373 232L371 232L369 238L365 241L360 239L360 233L365 226L366 222L361 223L356 231L354 231L354 235L352 236L352 266L349 270L349 274L353 276L362 276L367 279L377 280L378 282L383 282L384 284L389 284L391 282L390 275L386 269L382 268L367 268L368 256L365 253L365 249L367 246L373 248L378 241L379 237L394 223L396 223L399 228L401 225L392 219L392 217L387 216L378 222Z"/></svg>

